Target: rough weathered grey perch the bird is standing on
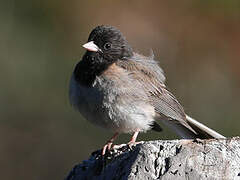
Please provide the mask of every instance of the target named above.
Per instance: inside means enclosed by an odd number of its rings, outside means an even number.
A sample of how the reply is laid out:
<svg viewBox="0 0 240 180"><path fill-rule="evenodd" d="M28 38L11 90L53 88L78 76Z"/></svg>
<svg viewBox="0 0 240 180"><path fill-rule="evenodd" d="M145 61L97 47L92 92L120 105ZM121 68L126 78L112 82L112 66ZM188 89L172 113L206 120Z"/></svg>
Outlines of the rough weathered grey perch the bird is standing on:
<svg viewBox="0 0 240 180"><path fill-rule="evenodd" d="M240 179L240 138L149 141L100 151L76 165L66 180Z"/></svg>

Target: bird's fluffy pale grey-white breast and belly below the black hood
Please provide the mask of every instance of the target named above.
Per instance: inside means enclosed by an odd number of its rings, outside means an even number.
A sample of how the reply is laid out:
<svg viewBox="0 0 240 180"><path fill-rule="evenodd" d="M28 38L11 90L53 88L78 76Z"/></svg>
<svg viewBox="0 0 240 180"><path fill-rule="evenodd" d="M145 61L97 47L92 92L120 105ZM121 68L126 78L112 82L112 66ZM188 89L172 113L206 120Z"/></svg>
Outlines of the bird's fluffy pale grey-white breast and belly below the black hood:
<svg viewBox="0 0 240 180"><path fill-rule="evenodd" d="M116 77L117 78L117 77ZM121 77L115 81L97 77L91 88L83 87L72 76L70 102L90 122L114 132L147 131L154 121L154 107L146 102L146 95L136 82ZM132 98L133 97L133 98Z"/></svg>

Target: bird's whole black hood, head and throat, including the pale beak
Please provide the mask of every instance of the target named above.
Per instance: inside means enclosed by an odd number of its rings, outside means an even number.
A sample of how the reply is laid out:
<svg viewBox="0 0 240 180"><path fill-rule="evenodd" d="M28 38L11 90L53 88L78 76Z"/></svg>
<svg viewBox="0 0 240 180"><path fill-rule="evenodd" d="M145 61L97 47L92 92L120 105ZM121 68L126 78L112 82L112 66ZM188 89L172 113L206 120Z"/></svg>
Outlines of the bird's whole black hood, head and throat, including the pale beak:
<svg viewBox="0 0 240 180"><path fill-rule="evenodd" d="M95 77L104 72L117 60L127 60L133 51L122 33L112 26L97 26L83 45L87 52L77 64L75 79L85 85L91 85Z"/></svg>

